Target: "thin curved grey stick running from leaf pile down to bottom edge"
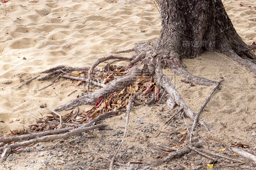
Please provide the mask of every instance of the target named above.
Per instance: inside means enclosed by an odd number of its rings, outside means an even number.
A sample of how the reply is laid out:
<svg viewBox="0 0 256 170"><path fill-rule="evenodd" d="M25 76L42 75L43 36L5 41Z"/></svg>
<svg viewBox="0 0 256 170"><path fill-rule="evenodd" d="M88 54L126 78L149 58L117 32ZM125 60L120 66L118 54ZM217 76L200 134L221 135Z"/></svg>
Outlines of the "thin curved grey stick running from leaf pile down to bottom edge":
<svg viewBox="0 0 256 170"><path fill-rule="evenodd" d="M113 158L111 159L111 162L110 162L110 166L109 166L109 170L113 170L114 169L114 161L115 161L115 158L116 158L116 154L117 152L119 151L119 149L121 148L123 142L124 142L124 138L126 136L126 132L127 132L127 128L128 128L128 122L129 122L129 116L130 116L130 111L131 111L131 106L132 106L132 102L137 98L137 95L138 95L138 92L136 92L132 98L130 99L128 105L127 105L127 110L126 110L126 120L125 120L125 129L124 129L124 135L123 135L123 138L122 138L122 141L120 143L120 145L118 146L116 152L114 153L113 155Z"/></svg>

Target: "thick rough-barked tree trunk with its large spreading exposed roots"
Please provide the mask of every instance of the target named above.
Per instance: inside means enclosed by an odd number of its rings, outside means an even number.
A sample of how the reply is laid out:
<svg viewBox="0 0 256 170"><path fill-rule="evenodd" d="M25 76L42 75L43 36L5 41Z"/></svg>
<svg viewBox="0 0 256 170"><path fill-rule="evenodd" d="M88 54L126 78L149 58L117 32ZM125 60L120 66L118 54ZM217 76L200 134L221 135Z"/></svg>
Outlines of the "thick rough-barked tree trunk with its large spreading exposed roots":
<svg viewBox="0 0 256 170"><path fill-rule="evenodd" d="M157 85L164 87L165 90L170 85L161 82L161 78L156 76L162 75L165 81L168 79L163 75L162 68L170 68L175 74L187 78L191 83L216 85L215 81L192 75L181 64L183 58L197 57L204 51L218 51L226 54L256 73L256 56L236 33L221 0L159 0L159 7L162 30L158 39L152 42L141 42L130 50L112 52L118 54L135 51L136 54L130 57L131 62L127 68L137 64L136 69L97 92L57 107L57 111L72 109L88 103L94 104L97 97L108 96L119 90L113 87L131 85L136 75L145 70L148 70L148 73L155 77ZM107 59L98 59L98 62L93 63L93 68L101 60L106 61ZM126 78L128 81L124 81ZM173 87L170 92L175 90ZM180 100L180 96L171 96L176 104L187 108L185 103ZM187 114L193 117L193 111L189 107Z"/></svg>

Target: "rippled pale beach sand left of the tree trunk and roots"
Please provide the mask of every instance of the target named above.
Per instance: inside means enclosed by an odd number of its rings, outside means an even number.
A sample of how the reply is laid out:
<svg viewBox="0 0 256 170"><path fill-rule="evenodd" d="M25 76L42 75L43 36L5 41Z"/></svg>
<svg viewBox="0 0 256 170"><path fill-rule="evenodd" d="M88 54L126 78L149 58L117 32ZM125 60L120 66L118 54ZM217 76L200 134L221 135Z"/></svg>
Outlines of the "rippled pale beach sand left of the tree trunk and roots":
<svg viewBox="0 0 256 170"><path fill-rule="evenodd" d="M57 65L90 67L111 51L156 39L161 28L160 14L150 1L12 0L1 3L0 12L0 133L33 124L47 114L40 105L60 106L84 90L60 80L36 93L50 82L34 80L17 89L19 79L28 80ZM13 83L2 84L9 81ZM73 90L77 92L67 97ZM10 123L14 117L20 121Z"/></svg>

